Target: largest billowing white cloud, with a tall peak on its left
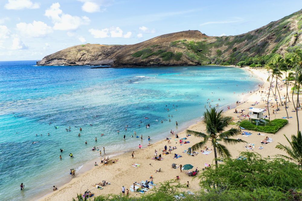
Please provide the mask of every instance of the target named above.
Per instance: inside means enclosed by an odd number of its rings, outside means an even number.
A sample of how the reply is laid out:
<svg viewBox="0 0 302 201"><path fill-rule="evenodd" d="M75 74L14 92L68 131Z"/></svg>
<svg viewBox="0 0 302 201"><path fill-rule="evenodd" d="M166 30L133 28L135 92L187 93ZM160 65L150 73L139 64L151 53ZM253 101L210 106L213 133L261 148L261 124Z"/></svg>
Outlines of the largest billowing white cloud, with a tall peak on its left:
<svg viewBox="0 0 302 201"><path fill-rule="evenodd" d="M86 16L78 17L64 14L59 3L53 3L49 9L45 11L45 16L51 18L55 30L75 30L81 25L88 25L90 19ZM61 16L59 16L61 15Z"/></svg>

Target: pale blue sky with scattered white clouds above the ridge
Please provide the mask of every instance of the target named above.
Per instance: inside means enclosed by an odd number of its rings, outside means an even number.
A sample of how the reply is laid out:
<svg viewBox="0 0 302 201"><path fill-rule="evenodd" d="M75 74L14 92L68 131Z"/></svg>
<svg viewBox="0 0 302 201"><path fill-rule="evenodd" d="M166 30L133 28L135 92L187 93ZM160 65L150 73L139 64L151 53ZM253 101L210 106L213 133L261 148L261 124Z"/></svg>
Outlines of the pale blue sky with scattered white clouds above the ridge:
<svg viewBox="0 0 302 201"><path fill-rule="evenodd" d="M0 61L38 61L75 45L130 45L185 30L238 35L300 9L301 0L0 0Z"/></svg>

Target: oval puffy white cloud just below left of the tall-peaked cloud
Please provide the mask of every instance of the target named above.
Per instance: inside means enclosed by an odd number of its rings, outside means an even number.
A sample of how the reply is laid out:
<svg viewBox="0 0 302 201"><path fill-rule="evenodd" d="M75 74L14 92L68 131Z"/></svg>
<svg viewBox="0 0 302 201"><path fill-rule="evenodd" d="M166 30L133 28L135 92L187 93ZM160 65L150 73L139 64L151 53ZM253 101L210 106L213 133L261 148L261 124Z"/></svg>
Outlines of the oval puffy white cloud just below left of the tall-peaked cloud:
<svg viewBox="0 0 302 201"><path fill-rule="evenodd" d="M20 32L20 35L27 38L43 37L49 33L53 33L52 28L41 21L34 21L33 24L21 22L16 26L17 30Z"/></svg>

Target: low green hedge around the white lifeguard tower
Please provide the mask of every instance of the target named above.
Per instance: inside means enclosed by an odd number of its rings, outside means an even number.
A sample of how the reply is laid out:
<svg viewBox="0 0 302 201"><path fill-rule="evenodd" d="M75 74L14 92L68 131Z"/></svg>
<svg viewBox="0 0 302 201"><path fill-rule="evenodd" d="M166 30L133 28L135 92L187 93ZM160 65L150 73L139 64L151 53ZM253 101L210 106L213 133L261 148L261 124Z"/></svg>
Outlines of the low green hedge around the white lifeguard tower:
<svg viewBox="0 0 302 201"><path fill-rule="evenodd" d="M288 123L286 119L274 119L272 121L269 121L267 119L264 120L268 122L267 126L256 126L255 124L252 124L249 121L242 121L239 126L247 130L275 134L280 128L284 127L284 125Z"/></svg>

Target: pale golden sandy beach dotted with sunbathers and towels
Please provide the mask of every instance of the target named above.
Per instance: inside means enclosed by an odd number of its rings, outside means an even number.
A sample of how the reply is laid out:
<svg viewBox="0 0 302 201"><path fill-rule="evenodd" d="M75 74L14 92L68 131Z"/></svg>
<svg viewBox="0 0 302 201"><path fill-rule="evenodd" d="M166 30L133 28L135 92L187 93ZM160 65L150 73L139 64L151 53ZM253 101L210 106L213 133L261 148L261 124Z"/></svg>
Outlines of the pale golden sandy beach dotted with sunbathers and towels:
<svg viewBox="0 0 302 201"><path fill-rule="evenodd" d="M269 89L269 83L266 82L268 78L268 73L265 69L248 69L252 74L255 74L259 76L260 78L263 79L263 86L262 83L259 83L262 88L259 90L263 90L266 93L268 92ZM285 76L283 76L285 77ZM275 85L276 83L273 82L272 85ZM282 84L282 83L281 83ZM278 85L280 86L280 85ZM238 86L240 87L240 86ZM255 93L248 93L248 96L245 96L244 103L241 103L239 105L236 105L237 111L245 110L243 111L243 114L247 114L248 108L255 107L255 108L264 108L265 107L265 102L261 101L262 98L267 99L266 93L259 93L259 90ZM286 95L286 88L285 86L282 87L280 91L281 96ZM289 86L289 92L291 91L291 86ZM247 92L242 89L242 92L247 94ZM238 96L238 94L234 94L234 96ZM291 101L291 94L289 94L290 100ZM294 100L296 99L297 95L294 95ZM222 97L223 98L223 95ZM272 94L270 95L269 99L272 98ZM285 99L281 99L284 101ZM239 100L240 101L240 100ZM257 105L251 106L255 102L258 102ZM235 103L234 103L235 104ZM278 101L279 104L279 101ZM230 150L232 157L236 158L239 156L240 152L243 151L249 151L249 152L257 152L261 154L263 157L267 156L274 156L276 154L285 154L283 151L276 149L275 146L278 143L281 143L283 145L288 145L286 138L283 136L285 134L288 138L291 137L292 134L297 134L297 119L296 119L296 113L291 112L293 110L293 103L288 102L288 115L289 118L288 121L289 123L285 125L282 129L280 129L277 133L275 134L270 134L270 133L261 133L262 135L257 135L259 132L255 131L249 131L252 133L249 137L245 137L242 135L238 135L237 137L245 140L248 143L254 144L255 148L252 149L247 149L246 143L239 143L236 145L228 145L228 149ZM214 106L212 106L214 107ZM277 114L273 115L272 110L276 109L275 108L269 108L270 110L270 120L273 120L275 118L282 118L286 117L286 111L285 111L285 106L280 106L280 111L277 111ZM239 120L240 116L239 113L234 113L235 108L231 108L230 110L224 110L224 115L227 116L232 116L234 118L234 122L237 122ZM300 116L300 112L298 111L298 114ZM268 115L268 112L264 112L264 115ZM201 114L202 115L202 114ZM301 120L300 120L301 124ZM230 125L229 129L231 127L237 127L236 125ZM238 127L237 127L238 128ZM172 129L172 128L171 128ZM197 124L191 125L188 129L190 130L196 130L199 132L204 132L205 126L202 122L198 122ZM167 131L169 133L169 131ZM184 138L186 137L185 131L178 133L179 138ZM269 138L273 139L272 143L268 144L261 144L260 141L264 140L264 138L268 136ZM114 159L114 163L109 163L108 165L104 165L100 163L100 159L96 159L98 166L93 166L93 168L87 172L84 172L82 174L77 175L76 178L72 179L69 183L63 185L63 186L58 186L58 190L53 191L48 193L47 195L43 196L39 200L44 200L44 201L56 201L56 200L71 200L72 197L76 198L77 193L84 193L85 190L89 189L92 193L94 193L95 196L101 195L101 194L109 194L109 193L116 193L119 194L121 193L121 188L122 186L125 186L125 188L129 189L130 186L134 182L140 182L140 181L146 181L150 180L149 177L152 175L153 176L153 182L155 184L159 184L160 182L164 182L167 180L175 179L176 176L179 176L179 182L181 184L189 183L191 184L189 187L190 191L198 190L200 189L198 183L198 179L192 180L192 177L188 177L187 174L185 174L186 171L180 172L180 168L173 169L172 168L172 163L179 165L185 165L185 164L191 164L194 166L193 170L195 168L198 168L198 170L202 170L202 168L205 167L205 163L207 164L214 164L214 152L212 151L208 155L201 154L199 152L198 155L192 157L189 156L186 153L183 153L184 150L187 150L189 147L194 145L197 142L200 142L202 138L200 137L194 137L194 136L189 136L187 137L186 141L190 141L190 143L183 144L181 145L179 143L179 139L176 140L175 136L171 135L171 140L170 143L167 142L167 140L162 140L158 143L153 144L151 141L151 145L143 148L142 150L139 150L137 144L137 148L134 149L134 159L132 159L131 153L127 152L122 155L114 156L113 158L109 159ZM169 155L162 155L163 160L157 161L153 160L152 158L155 156L155 150L157 150L157 155L162 154L162 150L164 149L164 146L167 146L169 149L169 146L173 147L176 146L177 149L172 150L171 154ZM211 144L207 144L207 146L212 149ZM258 149L260 146L263 147L263 149ZM200 150L201 151L201 150ZM179 154L182 155L182 157L178 159L173 159L174 154ZM104 155L107 157L107 155ZM102 158L104 158L104 156ZM133 167L132 164L139 164L139 167ZM161 168L160 172L156 172ZM111 184L110 185L105 185L104 189L98 190L94 187L96 183L102 182L102 181L108 181ZM55 184L54 184L55 185ZM156 187L156 186L155 186ZM148 193L148 192L147 192ZM95 197L94 196L94 197ZM140 196L140 193L137 192L130 192L130 196ZM92 197L93 198L93 197Z"/></svg>

